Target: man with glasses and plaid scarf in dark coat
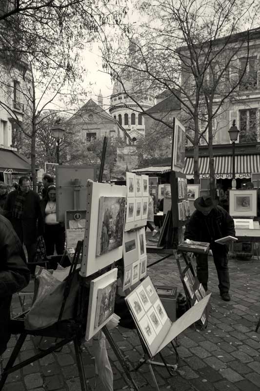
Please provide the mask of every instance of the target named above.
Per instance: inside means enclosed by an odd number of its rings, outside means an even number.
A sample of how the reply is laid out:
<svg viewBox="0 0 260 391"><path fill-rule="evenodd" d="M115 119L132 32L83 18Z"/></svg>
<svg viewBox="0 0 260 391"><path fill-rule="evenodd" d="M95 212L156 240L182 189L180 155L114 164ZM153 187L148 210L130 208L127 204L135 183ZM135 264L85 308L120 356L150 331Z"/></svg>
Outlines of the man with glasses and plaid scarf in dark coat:
<svg viewBox="0 0 260 391"><path fill-rule="evenodd" d="M27 250L28 262L33 262L37 250L37 238L42 232L40 196L30 190L28 176L21 176L18 190L7 195L4 216L7 217L21 243Z"/></svg>

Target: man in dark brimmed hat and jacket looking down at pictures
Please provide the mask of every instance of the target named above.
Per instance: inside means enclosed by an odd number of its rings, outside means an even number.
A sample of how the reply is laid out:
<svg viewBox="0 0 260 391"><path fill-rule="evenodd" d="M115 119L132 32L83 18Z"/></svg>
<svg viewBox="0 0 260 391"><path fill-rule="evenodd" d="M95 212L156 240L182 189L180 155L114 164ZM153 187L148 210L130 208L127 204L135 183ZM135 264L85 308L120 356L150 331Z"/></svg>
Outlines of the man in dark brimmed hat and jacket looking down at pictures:
<svg viewBox="0 0 260 391"><path fill-rule="evenodd" d="M202 196L194 201L196 211L186 225L184 239L210 243L219 278L220 296L224 301L230 301L228 246L215 243L215 240L228 235L235 237L236 232L233 218L221 206L217 205L217 202L209 196ZM196 259L197 276L206 291L208 289L207 255L198 254Z"/></svg>

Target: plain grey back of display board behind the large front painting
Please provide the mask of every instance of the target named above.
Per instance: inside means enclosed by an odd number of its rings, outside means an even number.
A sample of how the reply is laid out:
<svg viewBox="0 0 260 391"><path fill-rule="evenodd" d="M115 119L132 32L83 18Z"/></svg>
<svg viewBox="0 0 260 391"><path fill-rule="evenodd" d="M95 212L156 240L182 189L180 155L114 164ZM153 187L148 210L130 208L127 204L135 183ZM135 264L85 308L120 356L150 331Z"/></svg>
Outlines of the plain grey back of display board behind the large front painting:
<svg viewBox="0 0 260 391"><path fill-rule="evenodd" d="M57 220L64 221L65 211L86 208L87 180L96 180L95 166L56 166Z"/></svg>

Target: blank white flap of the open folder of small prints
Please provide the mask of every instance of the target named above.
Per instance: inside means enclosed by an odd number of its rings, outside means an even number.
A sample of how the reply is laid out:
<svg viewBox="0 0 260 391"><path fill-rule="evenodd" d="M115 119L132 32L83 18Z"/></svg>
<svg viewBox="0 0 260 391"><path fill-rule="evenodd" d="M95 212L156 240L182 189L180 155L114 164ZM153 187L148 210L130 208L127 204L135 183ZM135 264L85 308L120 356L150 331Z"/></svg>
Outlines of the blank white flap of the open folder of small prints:
<svg viewBox="0 0 260 391"><path fill-rule="evenodd" d="M182 331L186 330L193 323L200 320L204 309L206 308L211 293L200 300L199 303L191 307L185 314L183 314L176 322L174 322L169 329L164 341L161 343L160 347L157 349L157 353L161 351L161 349L165 348L174 338L176 338Z"/></svg>

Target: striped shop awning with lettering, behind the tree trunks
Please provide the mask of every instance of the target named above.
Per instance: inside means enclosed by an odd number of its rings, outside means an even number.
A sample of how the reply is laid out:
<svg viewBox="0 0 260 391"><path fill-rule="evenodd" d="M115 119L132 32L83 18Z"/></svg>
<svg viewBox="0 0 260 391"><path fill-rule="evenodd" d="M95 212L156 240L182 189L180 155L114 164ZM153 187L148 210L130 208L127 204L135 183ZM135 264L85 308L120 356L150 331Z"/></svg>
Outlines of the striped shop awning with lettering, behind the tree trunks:
<svg viewBox="0 0 260 391"><path fill-rule="evenodd" d="M217 179L232 178L232 156L214 157L215 176ZM199 157L200 177L209 175L209 157ZM252 173L260 173L260 155L236 155L235 156L236 178L250 178ZM188 179L194 177L193 157L186 157L184 174Z"/></svg>

